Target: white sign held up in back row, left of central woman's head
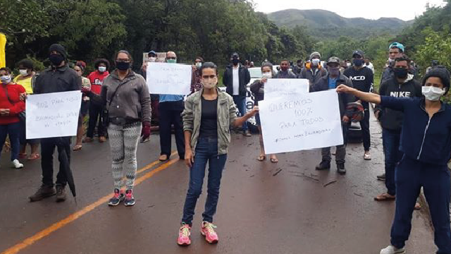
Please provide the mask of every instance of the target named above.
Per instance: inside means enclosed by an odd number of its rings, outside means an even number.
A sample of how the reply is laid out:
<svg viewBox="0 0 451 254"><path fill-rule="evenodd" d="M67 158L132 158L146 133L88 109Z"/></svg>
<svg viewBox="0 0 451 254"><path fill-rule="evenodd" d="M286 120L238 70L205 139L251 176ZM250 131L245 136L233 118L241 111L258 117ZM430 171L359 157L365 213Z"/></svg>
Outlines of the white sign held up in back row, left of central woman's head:
<svg viewBox="0 0 451 254"><path fill-rule="evenodd" d="M154 95L188 95L192 67L177 63L147 63L147 85Z"/></svg>

